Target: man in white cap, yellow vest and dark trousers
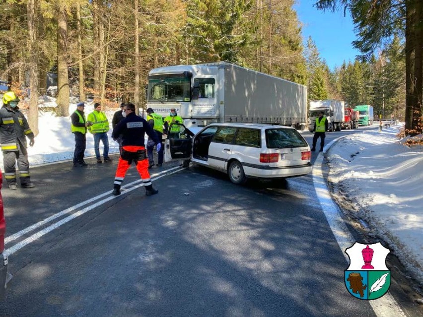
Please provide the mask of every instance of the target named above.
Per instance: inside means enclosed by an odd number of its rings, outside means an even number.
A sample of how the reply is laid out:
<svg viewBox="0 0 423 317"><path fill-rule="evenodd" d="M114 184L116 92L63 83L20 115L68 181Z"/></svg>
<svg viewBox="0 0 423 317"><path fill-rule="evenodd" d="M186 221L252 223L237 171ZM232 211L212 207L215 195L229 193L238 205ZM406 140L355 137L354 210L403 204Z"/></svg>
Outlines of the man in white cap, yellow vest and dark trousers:
<svg viewBox="0 0 423 317"><path fill-rule="evenodd" d="M80 102L76 105L75 112L70 116L70 130L75 136L75 151L73 152L74 167L88 166L84 161L84 152L86 147L87 127L92 126L92 123L86 121L84 109L85 103Z"/></svg>

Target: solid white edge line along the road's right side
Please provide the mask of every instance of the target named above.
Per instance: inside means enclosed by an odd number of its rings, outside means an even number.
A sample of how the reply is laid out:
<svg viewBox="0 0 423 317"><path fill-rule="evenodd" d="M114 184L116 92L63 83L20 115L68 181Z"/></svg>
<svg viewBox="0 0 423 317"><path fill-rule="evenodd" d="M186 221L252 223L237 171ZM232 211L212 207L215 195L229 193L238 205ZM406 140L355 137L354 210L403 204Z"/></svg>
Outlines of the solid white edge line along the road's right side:
<svg viewBox="0 0 423 317"><path fill-rule="evenodd" d="M344 136L342 136L344 137ZM340 138L338 137L332 142L330 142L327 146L325 146L325 152ZM348 254L345 253L345 250L352 246L355 240L352 238L350 231L347 228L344 220L341 217L340 211L333 202L329 189L326 185L326 181L323 178L322 173L322 163L323 163L323 155L319 154L316 161L314 162L313 166L313 183L314 188L316 190L317 198L319 199L320 205L322 210L328 220L329 226L335 236L336 241L338 242L339 247L341 248L342 253L344 254L347 265L349 263ZM347 268L347 265L345 268ZM347 291L347 290L346 290ZM368 301L371 308L373 309L374 313L378 317L406 317L401 307L395 301L389 292L378 298L376 300Z"/></svg>

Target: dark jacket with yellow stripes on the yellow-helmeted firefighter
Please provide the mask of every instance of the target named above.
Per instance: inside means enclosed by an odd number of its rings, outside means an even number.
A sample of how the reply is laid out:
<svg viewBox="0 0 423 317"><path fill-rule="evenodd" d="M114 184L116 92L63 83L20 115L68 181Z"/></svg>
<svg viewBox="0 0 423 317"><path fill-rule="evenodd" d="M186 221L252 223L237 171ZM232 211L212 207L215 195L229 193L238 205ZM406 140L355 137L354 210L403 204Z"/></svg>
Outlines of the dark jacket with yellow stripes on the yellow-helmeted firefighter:
<svg viewBox="0 0 423 317"><path fill-rule="evenodd" d="M34 138L25 116L16 107L13 110L3 105L0 109L0 143L1 151L18 151L19 146L26 146L27 136ZM20 144L20 145L19 145Z"/></svg>

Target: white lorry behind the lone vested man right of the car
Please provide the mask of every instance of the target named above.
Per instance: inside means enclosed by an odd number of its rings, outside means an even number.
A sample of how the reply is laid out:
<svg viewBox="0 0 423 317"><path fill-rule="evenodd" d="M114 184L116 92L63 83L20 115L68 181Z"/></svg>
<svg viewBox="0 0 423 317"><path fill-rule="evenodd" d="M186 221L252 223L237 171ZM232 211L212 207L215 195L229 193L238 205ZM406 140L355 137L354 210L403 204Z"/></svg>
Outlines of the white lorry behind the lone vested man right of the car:
<svg viewBox="0 0 423 317"><path fill-rule="evenodd" d="M308 111L308 128L311 131L316 124L316 118L319 112L323 112L323 116L328 121L329 131L341 131L341 125L345 121L345 102L341 100L310 100L310 108Z"/></svg>

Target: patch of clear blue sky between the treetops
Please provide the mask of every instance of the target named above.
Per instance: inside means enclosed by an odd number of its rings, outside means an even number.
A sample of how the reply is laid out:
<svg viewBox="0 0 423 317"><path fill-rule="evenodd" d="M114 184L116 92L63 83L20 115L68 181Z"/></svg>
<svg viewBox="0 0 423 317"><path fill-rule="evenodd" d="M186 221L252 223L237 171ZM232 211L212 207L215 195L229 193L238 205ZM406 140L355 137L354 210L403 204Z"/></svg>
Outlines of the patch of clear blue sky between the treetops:
<svg viewBox="0 0 423 317"><path fill-rule="evenodd" d="M315 2L315 0L297 0L294 5L303 24L304 45L311 36L320 57L326 60L331 69L335 65L341 66L344 60L347 63L349 60L353 61L360 53L351 44L356 38L350 13L347 11L344 17L344 10L323 12L313 7Z"/></svg>

